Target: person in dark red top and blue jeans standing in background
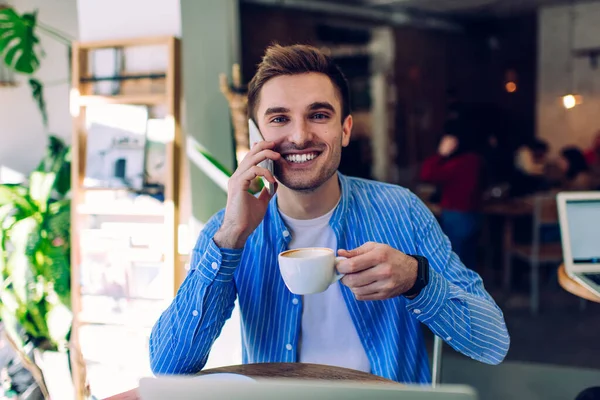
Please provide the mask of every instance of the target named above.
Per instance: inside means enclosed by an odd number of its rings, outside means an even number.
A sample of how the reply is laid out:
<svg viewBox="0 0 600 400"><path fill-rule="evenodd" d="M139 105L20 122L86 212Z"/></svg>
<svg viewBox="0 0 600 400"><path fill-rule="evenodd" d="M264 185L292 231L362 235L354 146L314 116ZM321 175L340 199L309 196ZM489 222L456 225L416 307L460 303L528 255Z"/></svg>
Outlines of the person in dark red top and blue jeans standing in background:
<svg viewBox="0 0 600 400"><path fill-rule="evenodd" d="M483 195L484 160L475 137L445 135L438 153L421 167L422 181L441 190L442 228L454 252L468 268L477 266L477 237Z"/></svg>

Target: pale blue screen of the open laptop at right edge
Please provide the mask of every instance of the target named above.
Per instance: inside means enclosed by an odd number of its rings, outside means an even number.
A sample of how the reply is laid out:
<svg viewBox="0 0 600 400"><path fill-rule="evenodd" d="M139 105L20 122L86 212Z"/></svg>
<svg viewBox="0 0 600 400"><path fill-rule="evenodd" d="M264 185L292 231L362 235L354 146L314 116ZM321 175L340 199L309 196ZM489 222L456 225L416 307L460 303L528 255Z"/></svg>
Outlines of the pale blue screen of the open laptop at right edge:
<svg viewBox="0 0 600 400"><path fill-rule="evenodd" d="M567 200L573 264L600 264L600 199Z"/></svg>

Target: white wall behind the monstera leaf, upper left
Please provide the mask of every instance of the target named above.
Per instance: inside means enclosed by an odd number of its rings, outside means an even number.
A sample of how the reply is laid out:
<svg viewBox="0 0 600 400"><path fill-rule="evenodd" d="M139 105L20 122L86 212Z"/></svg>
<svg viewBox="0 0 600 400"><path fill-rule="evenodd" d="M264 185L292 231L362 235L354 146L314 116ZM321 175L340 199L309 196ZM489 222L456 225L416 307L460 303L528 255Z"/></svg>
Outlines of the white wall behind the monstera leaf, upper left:
<svg viewBox="0 0 600 400"><path fill-rule="evenodd" d="M38 10L38 21L77 37L77 0L14 0L19 13ZM46 57L37 73L46 86L49 132L70 142L69 57L67 47L38 32ZM0 171L9 168L28 174L44 154L47 133L25 79L16 88L0 88ZM6 178L0 173L0 182Z"/></svg>

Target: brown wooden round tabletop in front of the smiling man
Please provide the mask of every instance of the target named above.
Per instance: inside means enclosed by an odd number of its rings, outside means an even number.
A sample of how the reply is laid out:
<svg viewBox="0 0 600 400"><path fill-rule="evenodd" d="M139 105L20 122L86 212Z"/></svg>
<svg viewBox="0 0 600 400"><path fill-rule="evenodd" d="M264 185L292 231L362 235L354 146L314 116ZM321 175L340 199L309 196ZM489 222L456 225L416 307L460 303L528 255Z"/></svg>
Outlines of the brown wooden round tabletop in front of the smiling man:
<svg viewBox="0 0 600 400"><path fill-rule="evenodd" d="M396 383L380 376L367 374L365 372L355 371L347 368L331 367L328 365L301 364L301 363L263 363L263 364L244 364L231 365L221 368L207 369L200 371L200 375L209 375L216 373L234 373L247 375L258 379L268 378L286 378L286 379L304 379L304 380L325 380L325 381L353 381L364 383ZM117 394L105 400L139 400L137 389Z"/></svg>

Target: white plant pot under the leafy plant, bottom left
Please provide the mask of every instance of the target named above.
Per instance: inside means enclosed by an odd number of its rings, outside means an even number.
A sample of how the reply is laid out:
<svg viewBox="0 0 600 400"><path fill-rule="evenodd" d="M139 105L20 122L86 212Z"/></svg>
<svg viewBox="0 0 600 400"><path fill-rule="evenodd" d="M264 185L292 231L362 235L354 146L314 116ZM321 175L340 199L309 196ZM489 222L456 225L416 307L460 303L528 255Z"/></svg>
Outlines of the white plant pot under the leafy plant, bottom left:
<svg viewBox="0 0 600 400"><path fill-rule="evenodd" d="M66 351L34 350L35 363L44 374L51 400L74 400L75 389Z"/></svg>

